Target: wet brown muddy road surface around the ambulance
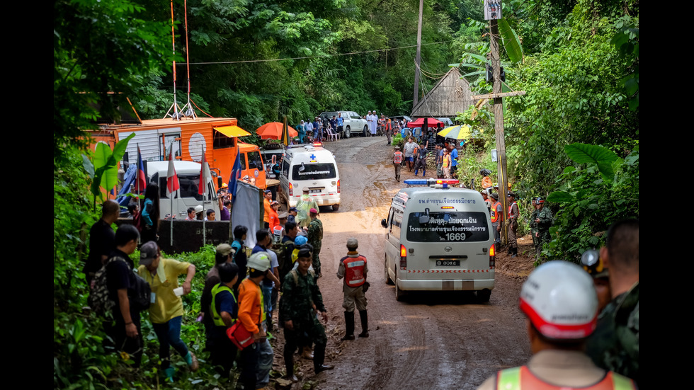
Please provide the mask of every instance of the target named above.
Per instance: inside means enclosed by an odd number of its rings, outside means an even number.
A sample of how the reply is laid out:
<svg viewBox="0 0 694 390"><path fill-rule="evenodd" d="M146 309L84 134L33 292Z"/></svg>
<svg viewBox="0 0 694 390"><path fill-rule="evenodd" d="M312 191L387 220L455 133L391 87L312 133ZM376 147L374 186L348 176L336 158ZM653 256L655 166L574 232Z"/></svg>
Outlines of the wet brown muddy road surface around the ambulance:
<svg viewBox="0 0 694 390"><path fill-rule="evenodd" d="M471 292L426 292L395 301L394 287L384 279L385 229L380 221L402 183L394 179L392 149L386 143L385 137L353 137L324 144L335 154L341 180L339 212L328 207L320 215L324 240L319 286L329 314L326 363L335 369L314 375L312 361L295 355L300 383L292 389L475 389L499 369L530 357L518 309L525 275L513 270L496 273L487 304L479 304ZM411 177L404 167L402 180ZM370 337L341 341L343 281L336 272L349 237L359 240L358 251L368 259ZM505 258L497 257L498 268ZM530 258L513 260L532 268ZM355 334L360 331L356 314ZM276 333L273 369L284 373L282 332Z"/></svg>

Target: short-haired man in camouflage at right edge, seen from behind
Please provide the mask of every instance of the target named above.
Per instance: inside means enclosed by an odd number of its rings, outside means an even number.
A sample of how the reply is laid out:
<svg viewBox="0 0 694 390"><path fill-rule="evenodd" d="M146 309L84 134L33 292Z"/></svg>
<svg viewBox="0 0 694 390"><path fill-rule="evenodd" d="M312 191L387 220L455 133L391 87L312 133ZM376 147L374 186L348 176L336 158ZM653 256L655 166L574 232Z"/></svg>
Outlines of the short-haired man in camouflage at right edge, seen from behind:
<svg viewBox="0 0 694 390"><path fill-rule="evenodd" d="M586 340L586 354L598 367L634 379L639 384L639 221L610 226L600 258L610 273L612 301L598 316L598 326Z"/></svg>

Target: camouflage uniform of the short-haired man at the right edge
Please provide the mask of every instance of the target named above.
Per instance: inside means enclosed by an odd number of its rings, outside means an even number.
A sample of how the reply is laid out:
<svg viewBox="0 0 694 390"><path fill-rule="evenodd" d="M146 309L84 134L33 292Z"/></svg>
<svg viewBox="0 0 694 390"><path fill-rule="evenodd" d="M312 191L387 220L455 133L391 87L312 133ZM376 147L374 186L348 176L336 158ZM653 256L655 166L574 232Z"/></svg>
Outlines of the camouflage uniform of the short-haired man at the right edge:
<svg viewBox="0 0 694 390"><path fill-rule="evenodd" d="M613 299L586 340L586 354L598 367L639 384L639 283Z"/></svg>

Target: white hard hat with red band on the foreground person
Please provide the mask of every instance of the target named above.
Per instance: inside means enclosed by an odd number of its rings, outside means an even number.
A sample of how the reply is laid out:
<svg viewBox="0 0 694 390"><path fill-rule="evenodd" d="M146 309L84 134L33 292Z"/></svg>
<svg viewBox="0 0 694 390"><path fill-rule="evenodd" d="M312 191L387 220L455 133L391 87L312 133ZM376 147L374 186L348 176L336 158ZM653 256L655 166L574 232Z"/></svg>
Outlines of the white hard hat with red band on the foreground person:
<svg viewBox="0 0 694 390"><path fill-rule="evenodd" d="M546 338L580 340L596 328L598 296L586 271L554 260L537 267L523 283L520 310Z"/></svg>

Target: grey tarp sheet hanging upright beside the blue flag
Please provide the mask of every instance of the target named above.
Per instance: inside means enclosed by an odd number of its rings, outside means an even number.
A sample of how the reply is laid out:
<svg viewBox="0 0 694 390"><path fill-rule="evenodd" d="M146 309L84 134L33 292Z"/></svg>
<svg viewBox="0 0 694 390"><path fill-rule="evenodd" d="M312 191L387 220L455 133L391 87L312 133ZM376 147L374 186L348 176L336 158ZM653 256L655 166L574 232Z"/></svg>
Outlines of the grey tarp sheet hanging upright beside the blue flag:
<svg viewBox="0 0 694 390"><path fill-rule="evenodd" d="M232 231L236 226L246 226L246 246L253 248L256 246L256 231L263 226L263 197L260 188L239 180L239 187L236 193L236 200L232 207Z"/></svg>

